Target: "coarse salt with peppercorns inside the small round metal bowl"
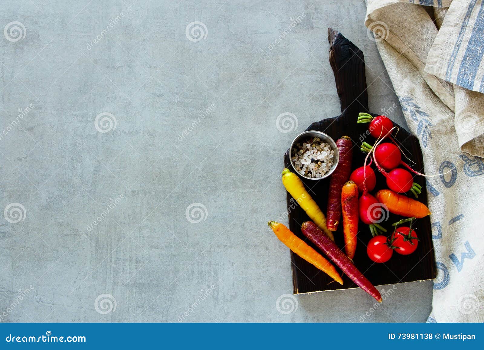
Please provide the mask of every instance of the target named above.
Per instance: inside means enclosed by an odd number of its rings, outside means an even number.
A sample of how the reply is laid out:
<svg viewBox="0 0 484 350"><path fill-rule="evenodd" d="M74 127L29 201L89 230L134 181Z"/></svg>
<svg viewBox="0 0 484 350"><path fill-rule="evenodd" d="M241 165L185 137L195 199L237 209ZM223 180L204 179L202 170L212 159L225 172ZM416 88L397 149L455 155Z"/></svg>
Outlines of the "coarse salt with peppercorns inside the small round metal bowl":
<svg viewBox="0 0 484 350"><path fill-rule="evenodd" d="M297 172L309 178L320 178L333 166L334 151L319 137L296 144L292 149L292 163Z"/></svg>

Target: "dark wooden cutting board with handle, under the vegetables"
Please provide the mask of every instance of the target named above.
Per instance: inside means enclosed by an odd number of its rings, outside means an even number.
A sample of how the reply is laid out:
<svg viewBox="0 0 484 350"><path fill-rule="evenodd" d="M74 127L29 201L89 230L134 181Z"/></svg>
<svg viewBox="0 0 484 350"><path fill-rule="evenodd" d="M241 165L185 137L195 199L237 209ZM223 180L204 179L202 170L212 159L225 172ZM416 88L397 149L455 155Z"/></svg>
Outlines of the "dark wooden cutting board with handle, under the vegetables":
<svg viewBox="0 0 484 350"><path fill-rule="evenodd" d="M337 140L343 135L351 137L355 146L353 148L352 169L355 169L363 166L365 158L365 154L360 151L359 147L362 140L364 139L364 141L370 144L375 142L373 137L366 135L368 124L356 123L358 112L368 112L364 57L363 52L341 35L341 33L331 28L328 31L328 39L331 46L330 63L333 68L336 88L341 100L342 114L334 118L314 122L306 130L322 131L334 140ZM376 116L376 114L372 115ZM395 126L398 126L395 122L393 123ZM416 163L412 167L417 171L423 172L422 150L420 149L418 139L400 127L395 140L407 155L411 155L411 159ZM294 171L289 163L288 152L284 154L284 164ZM378 171L376 173L377 187L372 191L373 194L381 188L386 188L385 178ZM303 178L301 180L323 213L326 213L329 178L319 181L305 180ZM422 186L422 194L418 200L427 204L427 191L424 178L415 176L414 181ZM301 233L301 224L309 220L309 217L291 199L291 195L287 193L289 229L300 238L305 239ZM402 218L401 216L390 214L388 220L380 225L387 228L388 233L391 233L393 228L392 223ZM417 250L408 256L394 253L392 259L388 262L377 264L371 261L366 255L366 244L372 236L368 226L360 221L354 263L375 286L421 281L436 277L429 216L416 220L413 227L420 239ZM342 225L339 225L338 230L334 232L335 242L340 247L344 246L342 231ZM312 245L312 243L308 243ZM317 249L314 245L313 247ZM344 274L341 274L344 281L342 286L338 283L331 283L333 281L331 277L292 252L291 262L295 294L357 288L348 276Z"/></svg>

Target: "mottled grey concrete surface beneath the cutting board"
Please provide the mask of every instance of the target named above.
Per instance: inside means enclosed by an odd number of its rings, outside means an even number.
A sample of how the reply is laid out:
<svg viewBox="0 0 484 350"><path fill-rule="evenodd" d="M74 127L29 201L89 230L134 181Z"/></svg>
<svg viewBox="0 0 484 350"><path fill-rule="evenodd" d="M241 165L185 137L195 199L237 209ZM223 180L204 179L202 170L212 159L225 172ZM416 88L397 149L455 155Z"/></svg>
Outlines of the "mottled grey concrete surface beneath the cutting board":
<svg viewBox="0 0 484 350"><path fill-rule="evenodd" d="M425 321L432 282L397 285L374 312L360 289L276 308L292 291L266 225L286 210L282 154L340 113L329 26L363 50L371 109L398 104L364 14L363 0L2 1L0 27L25 37L0 36L1 209L25 212L0 221L1 321ZM193 21L206 38L188 39ZM116 128L97 131L102 112Z"/></svg>

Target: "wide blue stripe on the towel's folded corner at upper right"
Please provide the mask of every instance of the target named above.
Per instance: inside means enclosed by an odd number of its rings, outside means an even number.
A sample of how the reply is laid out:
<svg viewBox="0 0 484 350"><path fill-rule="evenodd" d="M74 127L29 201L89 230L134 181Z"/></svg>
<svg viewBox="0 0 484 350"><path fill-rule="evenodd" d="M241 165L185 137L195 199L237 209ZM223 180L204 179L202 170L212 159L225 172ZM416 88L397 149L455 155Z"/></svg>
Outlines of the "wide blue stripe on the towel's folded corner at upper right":
<svg viewBox="0 0 484 350"><path fill-rule="evenodd" d="M481 8L477 14L472 34L469 38L466 53L460 63L459 75L457 76L456 84L466 89L472 90L474 88L474 80L476 78L477 70L484 55L484 2L481 3Z"/></svg>

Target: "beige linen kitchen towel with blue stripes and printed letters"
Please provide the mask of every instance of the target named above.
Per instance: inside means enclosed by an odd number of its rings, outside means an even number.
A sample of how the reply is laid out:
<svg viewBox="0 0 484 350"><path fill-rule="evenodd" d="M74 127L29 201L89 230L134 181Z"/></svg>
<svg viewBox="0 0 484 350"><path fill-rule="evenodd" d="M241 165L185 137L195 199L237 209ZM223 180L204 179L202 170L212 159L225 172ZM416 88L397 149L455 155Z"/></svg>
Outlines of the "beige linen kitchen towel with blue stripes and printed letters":
<svg viewBox="0 0 484 350"><path fill-rule="evenodd" d="M482 322L483 1L366 1L365 26L419 137L425 173L446 173L427 178L437 264L427 321Z"/></svg>

